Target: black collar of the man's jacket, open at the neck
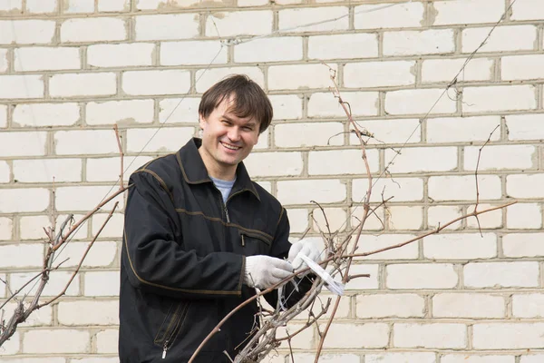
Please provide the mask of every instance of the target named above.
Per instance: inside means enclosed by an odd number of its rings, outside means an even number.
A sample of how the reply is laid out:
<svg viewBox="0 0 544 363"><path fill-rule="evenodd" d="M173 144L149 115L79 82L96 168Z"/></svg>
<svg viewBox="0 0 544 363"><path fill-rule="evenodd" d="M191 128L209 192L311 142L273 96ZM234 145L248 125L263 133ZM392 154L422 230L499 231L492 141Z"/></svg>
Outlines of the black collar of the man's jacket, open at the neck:
<svg viewBox="0 0 544 363"><path fill-rule="evenodd" d="M179 152L177 152L176 157L178 163L180 164L181 173L183 174L183 179L189 184L201 184L204 182L212 182L209 179L208 170L206 165L202 161L202 157L199 153L199 147L202 144L202 140L199 138L192 138L183 146ZM243 162L238 163L236 169L236 182L232 187L230 194L234 194L238 191L250 191L258 201L260 197L258 192L255 189L255 185L251 182L249 178L248 171L244 166Z"/></svg>

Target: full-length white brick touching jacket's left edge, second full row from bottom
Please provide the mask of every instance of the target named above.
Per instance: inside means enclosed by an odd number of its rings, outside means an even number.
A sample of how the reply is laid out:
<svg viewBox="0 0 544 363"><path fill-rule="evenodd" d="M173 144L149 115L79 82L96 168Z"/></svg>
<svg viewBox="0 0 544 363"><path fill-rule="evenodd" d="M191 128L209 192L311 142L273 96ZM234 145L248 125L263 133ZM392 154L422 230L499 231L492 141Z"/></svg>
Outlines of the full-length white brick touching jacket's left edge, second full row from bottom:
<svg viewBox="0 0 544 363"><path fill-rule="evenodd" d="M61 301L57 319L64 326L118 325L118 300Z"/></svg>

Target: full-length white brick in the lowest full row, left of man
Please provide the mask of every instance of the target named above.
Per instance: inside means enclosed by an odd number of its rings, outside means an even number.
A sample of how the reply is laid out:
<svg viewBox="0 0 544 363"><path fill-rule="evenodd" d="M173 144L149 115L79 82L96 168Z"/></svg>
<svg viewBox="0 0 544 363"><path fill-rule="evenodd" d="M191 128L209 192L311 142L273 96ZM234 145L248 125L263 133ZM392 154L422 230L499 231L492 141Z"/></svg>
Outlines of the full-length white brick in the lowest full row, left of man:
<svg viewBox="0 0 544 363"><path fill-rule="evenodd" d="M88 331L75 329L34 329L24 334L23 352L90 353L91 337Z"/></svg>

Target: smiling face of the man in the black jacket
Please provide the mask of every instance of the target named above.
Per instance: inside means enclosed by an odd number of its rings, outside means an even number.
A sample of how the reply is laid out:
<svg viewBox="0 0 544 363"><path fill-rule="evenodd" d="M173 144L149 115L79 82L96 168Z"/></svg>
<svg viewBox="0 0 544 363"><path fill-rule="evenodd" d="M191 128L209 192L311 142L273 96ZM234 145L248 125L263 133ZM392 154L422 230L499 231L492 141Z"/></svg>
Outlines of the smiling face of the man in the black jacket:
<svg viewBox="0 0 544 363"><path fill-rule="evenodd" d="M257 120L231 113L233 102L232 97L225 99L207 118L199 115L202 129L199 152L209 174L218 179L233 179L238 162L248 156L258 141Z"/></svg>

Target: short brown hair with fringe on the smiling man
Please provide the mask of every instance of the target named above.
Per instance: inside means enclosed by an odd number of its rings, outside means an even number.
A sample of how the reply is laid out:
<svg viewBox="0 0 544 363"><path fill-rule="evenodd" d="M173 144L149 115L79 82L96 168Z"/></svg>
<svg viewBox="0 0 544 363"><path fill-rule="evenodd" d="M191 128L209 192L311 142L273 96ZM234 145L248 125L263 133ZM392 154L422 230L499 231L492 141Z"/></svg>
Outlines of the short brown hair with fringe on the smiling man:
<svg viewBox="0 0 544 363"><path fill-rule="evenodd" d="M238 117L255 117L259 123L258 132L264 132L272 122L272 104L267 94L246 74L230 75L219 83L212 85L202 95L199 104L199 115L207 118L223 100L233 97L230 107Z"/></svg>

